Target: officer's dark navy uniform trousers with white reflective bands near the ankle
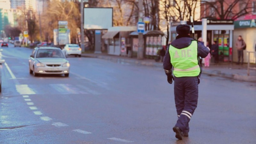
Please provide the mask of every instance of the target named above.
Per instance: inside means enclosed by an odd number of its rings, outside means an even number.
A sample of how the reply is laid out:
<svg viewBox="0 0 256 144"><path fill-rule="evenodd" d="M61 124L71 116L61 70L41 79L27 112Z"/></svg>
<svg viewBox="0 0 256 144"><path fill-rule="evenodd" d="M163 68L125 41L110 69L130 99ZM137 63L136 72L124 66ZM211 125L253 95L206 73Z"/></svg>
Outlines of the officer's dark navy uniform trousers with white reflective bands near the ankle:
<svg viewBox="0 0 256 144"><path fill-rule="evenodd" d="M189 121L198 100L198 77L174 78L174 97L178 114L176 127L183 133L189 132Z"/></svg>

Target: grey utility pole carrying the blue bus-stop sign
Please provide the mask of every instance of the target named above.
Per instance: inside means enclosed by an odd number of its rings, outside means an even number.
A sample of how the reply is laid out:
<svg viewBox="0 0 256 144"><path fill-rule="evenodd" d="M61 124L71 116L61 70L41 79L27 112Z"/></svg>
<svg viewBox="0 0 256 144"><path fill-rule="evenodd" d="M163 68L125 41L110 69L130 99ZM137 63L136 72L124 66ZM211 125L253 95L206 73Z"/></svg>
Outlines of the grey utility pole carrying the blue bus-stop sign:
<svg viewBox="0 0 256 144"><path fill-rule="evenodd" d="M142 22L143 13L142 13L142 0L139 0L139 22ZM144 39L143 33L139 33L139 44L138 44L138 54L137 59L143 59L144 57Z"/></svg>

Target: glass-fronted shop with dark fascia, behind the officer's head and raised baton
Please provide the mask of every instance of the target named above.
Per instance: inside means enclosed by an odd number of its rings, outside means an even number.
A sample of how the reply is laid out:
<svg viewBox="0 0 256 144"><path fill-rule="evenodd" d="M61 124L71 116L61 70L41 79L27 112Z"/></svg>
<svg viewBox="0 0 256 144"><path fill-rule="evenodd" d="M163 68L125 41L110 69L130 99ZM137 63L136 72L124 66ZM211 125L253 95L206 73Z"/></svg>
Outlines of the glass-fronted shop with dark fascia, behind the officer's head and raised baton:
<svg viewBox="0 0 256 144"><path fill-rule="evenodd" d="M188 25L191 23L185 22ZM173 41L176 34L176 26L180 23L172 23L171 26L171 41ZM195 39L198 39L202 35L202 22L195 21ZM207 20L207 42L208 46L211 48L211 45L214 41L217 41L219 45L219 55L221 61L230 62L232 61L232 50L233 50L233 30L234 23L233 20ZM192 36L192 31L191 31Z"/></svg>

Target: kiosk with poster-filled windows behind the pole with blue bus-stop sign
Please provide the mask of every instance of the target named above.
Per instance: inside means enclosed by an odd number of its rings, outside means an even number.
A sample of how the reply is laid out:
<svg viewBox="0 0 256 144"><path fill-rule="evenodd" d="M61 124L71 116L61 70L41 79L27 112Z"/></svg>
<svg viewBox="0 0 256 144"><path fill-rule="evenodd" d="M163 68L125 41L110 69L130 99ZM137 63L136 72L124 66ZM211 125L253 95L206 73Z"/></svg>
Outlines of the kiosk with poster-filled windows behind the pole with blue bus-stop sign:
<svg viewBox="0 0 256 144"><path fill-rule="evenodd" d="M130 36L132 37L133 41L133 57L137 56L138 52L138 32L134 31L130 33ZM147 58L154 58L157 55L157 51L159 49L162 49L162 37L164 36L164 33L160 30L152 30L152 31L145 31L143 33L144 37L144 54Z"/></svg>

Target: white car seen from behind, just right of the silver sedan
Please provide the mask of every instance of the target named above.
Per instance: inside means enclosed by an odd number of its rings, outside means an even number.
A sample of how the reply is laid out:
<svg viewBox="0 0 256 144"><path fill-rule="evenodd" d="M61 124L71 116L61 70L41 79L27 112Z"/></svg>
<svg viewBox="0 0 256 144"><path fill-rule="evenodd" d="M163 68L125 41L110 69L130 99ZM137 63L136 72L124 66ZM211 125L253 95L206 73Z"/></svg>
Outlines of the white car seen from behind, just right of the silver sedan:
<svg viewBox="0 0 256 144"><path fill-rule="evenodd" d="M82 49L79 47L78 44L66 44L62 51L65 56L74 55L75 57L81 57L82 54Z"/></svg>

